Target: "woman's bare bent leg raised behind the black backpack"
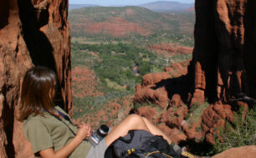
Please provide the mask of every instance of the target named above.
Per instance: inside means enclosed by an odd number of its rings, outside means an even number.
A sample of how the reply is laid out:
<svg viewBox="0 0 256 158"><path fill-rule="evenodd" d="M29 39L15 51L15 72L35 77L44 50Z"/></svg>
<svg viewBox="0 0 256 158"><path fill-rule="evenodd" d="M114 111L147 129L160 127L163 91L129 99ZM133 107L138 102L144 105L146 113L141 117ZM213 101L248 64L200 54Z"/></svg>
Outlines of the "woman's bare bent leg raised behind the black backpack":
<svg viewBox="0 0 256 158"><path fill-rule="evenodd" d="M146 118L138 115L130 115L121 121L118 126L115 126L112 131L105 137L107 146L115 141L120 136L125 136L130 130L145 130L151 132L153 135L163 136L166 141L171 143L172 141L156 126L151 124Z"/></svg>

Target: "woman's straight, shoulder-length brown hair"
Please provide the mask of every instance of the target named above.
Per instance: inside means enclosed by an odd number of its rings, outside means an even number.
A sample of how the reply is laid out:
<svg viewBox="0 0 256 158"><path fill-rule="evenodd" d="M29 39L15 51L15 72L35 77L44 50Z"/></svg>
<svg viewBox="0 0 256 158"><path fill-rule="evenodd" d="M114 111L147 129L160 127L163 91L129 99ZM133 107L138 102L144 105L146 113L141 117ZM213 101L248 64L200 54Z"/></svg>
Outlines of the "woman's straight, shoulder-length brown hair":
<svg viewBox="0 0 256 158"><path fill-rule="evenodd" d="M46 67L32 67L23 78L21 91L20 116L25 120L30 114L44 116L44 111L54 112L54 91L56 91L56 74Z"/></svg>

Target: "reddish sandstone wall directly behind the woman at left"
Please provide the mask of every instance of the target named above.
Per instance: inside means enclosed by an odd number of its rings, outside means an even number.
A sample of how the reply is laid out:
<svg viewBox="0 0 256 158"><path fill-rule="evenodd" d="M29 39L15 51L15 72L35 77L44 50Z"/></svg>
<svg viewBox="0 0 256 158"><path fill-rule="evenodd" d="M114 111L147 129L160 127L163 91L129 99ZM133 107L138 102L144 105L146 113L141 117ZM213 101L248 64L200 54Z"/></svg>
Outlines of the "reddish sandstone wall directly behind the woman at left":
<svg viewBox="0 0 256 158"><path fill-rule="evenodd" d="M50 67L59 77L59 106L72 112L68 2L0 2L0 157L33 157L16 120L20 86L29 67Z"/></svg>

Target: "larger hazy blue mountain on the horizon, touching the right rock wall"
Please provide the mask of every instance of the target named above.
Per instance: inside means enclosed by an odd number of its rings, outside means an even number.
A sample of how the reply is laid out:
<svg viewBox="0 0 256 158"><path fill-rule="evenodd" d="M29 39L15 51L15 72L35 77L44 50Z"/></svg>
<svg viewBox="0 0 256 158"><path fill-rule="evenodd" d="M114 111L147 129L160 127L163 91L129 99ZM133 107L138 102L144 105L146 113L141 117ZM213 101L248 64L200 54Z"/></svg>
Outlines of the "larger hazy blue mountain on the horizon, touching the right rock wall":
<svg viewBox="0 0 256 158"><path fill-rule="evenodd" d="M182 2L169 2L169 1L158 1L148 2L139 5L139 7L145 7L154 12L184 12L188 8L194 7L194 3L182 3Z"/></svg>

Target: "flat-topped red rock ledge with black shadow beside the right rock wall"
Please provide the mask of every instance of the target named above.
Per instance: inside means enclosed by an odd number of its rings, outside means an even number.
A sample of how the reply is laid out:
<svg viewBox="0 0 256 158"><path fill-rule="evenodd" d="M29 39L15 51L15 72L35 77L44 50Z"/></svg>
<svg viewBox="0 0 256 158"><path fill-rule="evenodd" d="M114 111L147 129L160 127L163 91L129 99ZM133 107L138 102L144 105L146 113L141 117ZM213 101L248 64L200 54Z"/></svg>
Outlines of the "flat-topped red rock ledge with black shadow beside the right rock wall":
<svg viewBox="0 0 256 158"><path fill-rule="evenodd" d="M165 72L146 74L142 78L141 85L136 86L135 103L152 102L162 108L169 104L169 98L174 92L187 94L187 64L189 62L180 62L172 64L172 67L166 67ZM177 77L177 78L173 78ZM184 85L178 83L186 81ZM185 91L183 91L185 90Z"/></svg>

